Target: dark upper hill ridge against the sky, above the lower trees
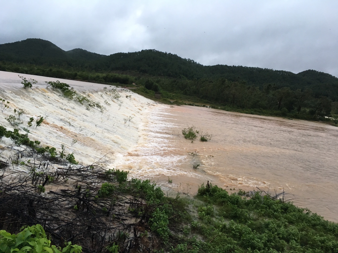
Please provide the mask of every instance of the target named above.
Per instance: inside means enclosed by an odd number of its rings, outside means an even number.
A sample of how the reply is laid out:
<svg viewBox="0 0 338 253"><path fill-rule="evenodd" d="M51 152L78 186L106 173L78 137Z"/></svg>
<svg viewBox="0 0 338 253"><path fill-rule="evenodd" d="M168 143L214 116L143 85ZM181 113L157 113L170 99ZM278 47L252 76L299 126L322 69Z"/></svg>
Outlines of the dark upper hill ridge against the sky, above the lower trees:
<svg viewBox="0 0 338 253"><path fill-rule="evenodd" d="M229 81L244 81L248 85L312 89L314 95L328 96L338 100L338 78L307 70L298 74L258 67L214 65L203 66L191 59L157 50L142 50L132 53L115 53L109 56L91 53L82 49L64 51L43 39L26 39L0 45L0 60L45 66L73 68L77 71L114 72L134 71L151 76L184 78L226 78Z"/></svg>

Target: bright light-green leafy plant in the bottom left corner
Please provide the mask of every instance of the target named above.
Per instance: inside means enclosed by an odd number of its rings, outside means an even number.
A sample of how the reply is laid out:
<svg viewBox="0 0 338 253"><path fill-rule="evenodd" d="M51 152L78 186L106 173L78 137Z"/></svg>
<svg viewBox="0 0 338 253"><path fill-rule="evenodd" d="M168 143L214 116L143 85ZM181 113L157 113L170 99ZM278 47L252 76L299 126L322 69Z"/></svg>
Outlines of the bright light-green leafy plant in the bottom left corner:
<svg viewBox="0 0 338 253"><path fill-rule="evenodd" d="M27 252L27 253L79 253L82 247L66 243L66 247L61 249L55 245L50 245L45 230L41 225L27 226L18 234L10 234L5 230L0 230L0 252Z"/></svg>

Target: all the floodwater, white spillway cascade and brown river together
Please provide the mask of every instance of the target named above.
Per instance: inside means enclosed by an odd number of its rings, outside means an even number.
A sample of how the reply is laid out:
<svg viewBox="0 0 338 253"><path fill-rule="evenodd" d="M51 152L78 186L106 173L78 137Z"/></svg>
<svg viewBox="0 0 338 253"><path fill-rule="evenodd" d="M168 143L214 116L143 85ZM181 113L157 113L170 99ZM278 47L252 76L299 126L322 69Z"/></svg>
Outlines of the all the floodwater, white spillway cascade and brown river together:
<svg viewBox="0 0 338 253"><path fill-rule="evenodd" d="M163 189L195 193L207 180L227 189L289 193L301 207L338 221L338 129L320 122L288 120L225 112L192 106L155 103L130 90L109 85L20 74L38 81L23 89L16 73L0 72L0 96L9 108L0 115L7 130L29 131L31 140L61 151L64 145L76 160L91 164L102 157L111 168L130 176L152 179ZM78 94L101 107L86 107L70 100L45 81L65 82ZM22 123L5 118L23 110ZM44 117L40 126L27 125ZM211 141L193 142L182 129L194 125L212 135ZM2 139L2 147L11 144ZM3 149L1 160L12 153ZM29 158L23 158L26 162ZM200 164L198 169L193 165ZM13 165L12 171L24 171ZM168 182L168 178L172 182ZM231 190L230 190L231 189Z"/></svg>

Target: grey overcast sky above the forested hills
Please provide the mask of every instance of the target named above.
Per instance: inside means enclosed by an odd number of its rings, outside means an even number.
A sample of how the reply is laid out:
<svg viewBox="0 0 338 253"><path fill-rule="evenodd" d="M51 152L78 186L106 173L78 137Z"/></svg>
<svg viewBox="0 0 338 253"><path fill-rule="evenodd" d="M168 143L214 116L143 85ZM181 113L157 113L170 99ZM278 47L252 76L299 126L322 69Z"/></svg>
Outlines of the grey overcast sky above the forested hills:
<svg viewBox="0 0 338 253"><path fill-rule="evenodd" d="M203 65L338 77L337 0L0 0L0 44L26 38L64 50L156 49Z"/></svg>

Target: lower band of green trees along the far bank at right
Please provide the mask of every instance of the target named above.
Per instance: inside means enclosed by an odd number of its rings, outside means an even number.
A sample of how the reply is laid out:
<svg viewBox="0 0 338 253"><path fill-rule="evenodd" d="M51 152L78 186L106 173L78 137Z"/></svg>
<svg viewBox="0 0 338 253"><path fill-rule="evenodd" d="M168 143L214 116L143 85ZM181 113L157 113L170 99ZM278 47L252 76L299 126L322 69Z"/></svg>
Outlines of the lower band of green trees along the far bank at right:
<svg viewBox="0 0 338 253"><path fill-rule="evenodd" d="M219 106L276 111L274 112L276 116L286 116L288 113L329 116L332 110L333 113L338 113L337 102L332 102L327 96L315 97L311 89L291 90L289 87L279 88L275 84L265 84L263 88L259 88L245 82L228 81L225 78L195 80L158 78L154 81L141 79L139 82L143 82L146 88L154 91L160 87L164 97L173 100L177 99L177 94L183 94ZM297 115L294 117L304 118Z"/></svg>

